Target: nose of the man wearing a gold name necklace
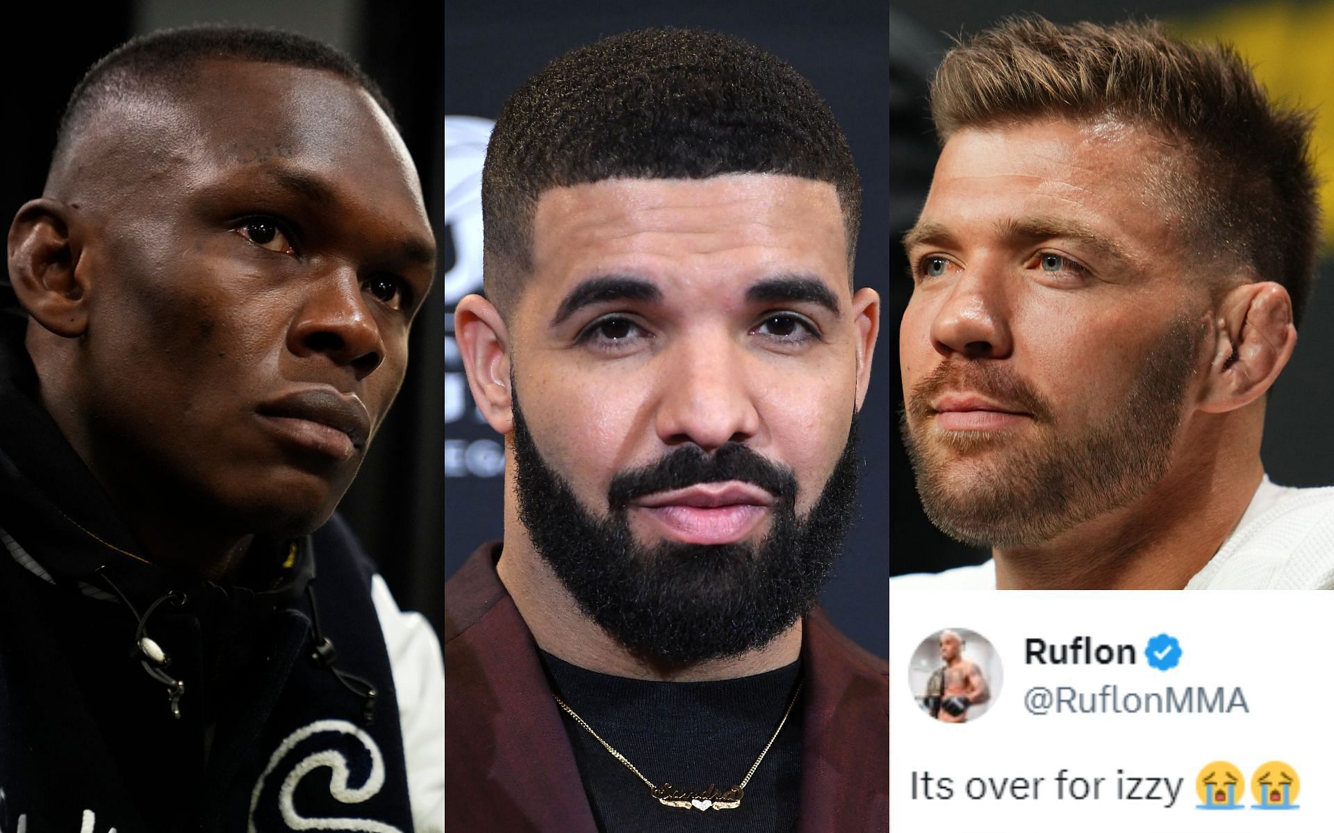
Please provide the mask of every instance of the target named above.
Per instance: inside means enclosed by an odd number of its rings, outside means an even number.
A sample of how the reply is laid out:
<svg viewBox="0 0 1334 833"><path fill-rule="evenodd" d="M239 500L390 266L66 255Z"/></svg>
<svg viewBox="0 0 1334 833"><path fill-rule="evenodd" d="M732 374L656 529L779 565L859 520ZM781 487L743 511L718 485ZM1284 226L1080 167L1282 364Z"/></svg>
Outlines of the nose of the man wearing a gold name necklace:
<svg viewBox="0 0 1334 833"><path fill-rule="evenodd" d="M655 425L663 442L694 442L714 450L759 430L742 345L723 336L696 339L662 359L667 369Z"/></svg>

